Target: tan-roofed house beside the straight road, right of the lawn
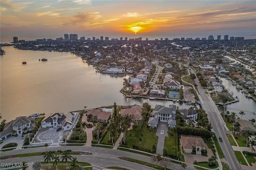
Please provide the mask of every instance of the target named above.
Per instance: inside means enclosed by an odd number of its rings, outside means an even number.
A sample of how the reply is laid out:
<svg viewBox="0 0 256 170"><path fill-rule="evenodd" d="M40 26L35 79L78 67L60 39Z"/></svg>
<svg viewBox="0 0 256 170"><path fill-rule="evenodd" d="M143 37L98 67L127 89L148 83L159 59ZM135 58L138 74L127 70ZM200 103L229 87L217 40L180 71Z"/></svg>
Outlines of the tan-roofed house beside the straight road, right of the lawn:
<svg viewBox="0 0 256 170"><path fill-rule="evenodd" d="M196 154L201 154L202 149L206 150L204 140L197 136L180 135L180 145L185 153L192 153L195 150Z"/></svg>

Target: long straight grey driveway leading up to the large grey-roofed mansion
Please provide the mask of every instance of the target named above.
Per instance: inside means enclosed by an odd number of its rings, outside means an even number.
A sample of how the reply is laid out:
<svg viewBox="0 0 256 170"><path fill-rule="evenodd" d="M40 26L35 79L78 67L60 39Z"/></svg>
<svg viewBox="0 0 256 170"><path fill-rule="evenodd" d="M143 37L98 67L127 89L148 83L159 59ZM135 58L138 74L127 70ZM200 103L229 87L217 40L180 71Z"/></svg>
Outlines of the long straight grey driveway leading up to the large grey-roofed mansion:
<svg viewBox="0 0 256 170"><path fill-rule="evenodd" d="M163 132L161 134L161 131ZM158 122L156 136L158 136L158 142L157 142L157 148L156 148L156 154L163 155L163 149L164 149L164 137L168 135L168 125L167 122Z"/></svg>

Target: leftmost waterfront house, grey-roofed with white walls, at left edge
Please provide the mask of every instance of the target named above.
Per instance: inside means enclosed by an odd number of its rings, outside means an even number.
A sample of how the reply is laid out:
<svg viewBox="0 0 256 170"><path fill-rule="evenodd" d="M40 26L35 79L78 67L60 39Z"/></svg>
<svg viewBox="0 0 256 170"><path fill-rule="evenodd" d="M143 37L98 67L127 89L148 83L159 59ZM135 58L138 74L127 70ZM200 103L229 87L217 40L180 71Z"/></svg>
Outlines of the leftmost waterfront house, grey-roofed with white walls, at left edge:
<svg viewBox="0 0 256 170"><path fill-rule="evenodd" d="M17 135L21 135L24 132L31 131L35 125L36 123L32 117L16 117L15 120L5 124L4 130L0 133L0 139L3 140L10 137L13 131L15 131ZM24 128L27 130L24 130Z"/></svg>

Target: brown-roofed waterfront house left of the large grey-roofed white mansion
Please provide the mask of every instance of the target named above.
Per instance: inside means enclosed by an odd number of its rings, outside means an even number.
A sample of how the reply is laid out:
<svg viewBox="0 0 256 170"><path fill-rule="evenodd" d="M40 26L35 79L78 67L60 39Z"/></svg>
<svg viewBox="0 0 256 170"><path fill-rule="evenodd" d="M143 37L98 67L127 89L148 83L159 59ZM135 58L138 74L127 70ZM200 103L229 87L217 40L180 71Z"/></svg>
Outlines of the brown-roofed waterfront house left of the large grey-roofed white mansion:
<svg viewBox="0 0 256 170"><path fill-rule="evenodd" d="M140 106L122 106L120 114L122 116L130 115L132 120L136 122L142 120L142 109Z"/></svg>

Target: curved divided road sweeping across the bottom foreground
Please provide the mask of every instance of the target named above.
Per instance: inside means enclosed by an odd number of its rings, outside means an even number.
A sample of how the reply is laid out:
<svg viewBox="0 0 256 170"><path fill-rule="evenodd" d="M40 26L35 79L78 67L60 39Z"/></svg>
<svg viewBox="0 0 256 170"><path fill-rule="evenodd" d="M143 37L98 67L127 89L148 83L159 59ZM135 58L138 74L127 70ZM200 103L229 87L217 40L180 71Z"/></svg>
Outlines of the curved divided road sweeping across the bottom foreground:
<svg viewBox="0 0 256 170"><path fill-rule="evenodd" d="M47 147L47 150L64 150L65 147ZM120 160L117 157L126 156L130 158L135 158L138 160L143 160L146 162L151 162L150 156L144 156L141 154L135 154L131 152L124 152L121 150L114 149L104 149L98 147L78 147L78 146L66 146L66 149L70 149L73 151L87 151L92 152L93 155L74 155L78 158L78 161L89 162L93 166L93 170L101 170L104 167L108 166L120 166L124 168L128 168L130 170L153 170L153 168L149 168L147 166L142 166L139 164L134 164L132 162L126 162L124 160ZM20 149L20 150L12 150L1 152L1 156L7 155L15 155L15 154L25 154L32 152L43 152L45 151L44 147L39 148L29 148L29 149ZM35 162L36 160L44 161L43 156L33 156L33 157L25 157L25 158L11 158L8 160L1 160L1 163L20 163L23 160L27 162ZM178 164L172 164L171 168L175 170L182 170L183 168ZM194 168L186 168L186 170L194 170Z"/></svg>

